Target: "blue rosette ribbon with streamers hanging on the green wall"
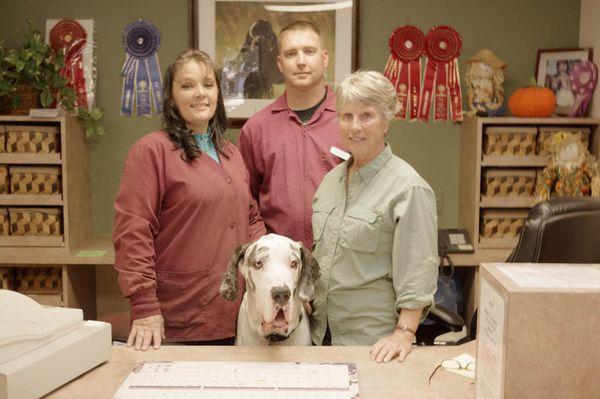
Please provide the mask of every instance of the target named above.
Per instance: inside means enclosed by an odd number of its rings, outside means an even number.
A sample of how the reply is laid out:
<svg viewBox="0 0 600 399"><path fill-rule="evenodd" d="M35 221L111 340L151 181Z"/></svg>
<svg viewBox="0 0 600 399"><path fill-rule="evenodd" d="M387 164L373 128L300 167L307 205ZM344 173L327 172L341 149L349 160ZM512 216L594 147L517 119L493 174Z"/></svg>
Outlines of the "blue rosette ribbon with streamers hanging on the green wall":
<svg viewBox="0 0 600 399"><path fill-rule="evenodd" d="M158 63L160 32L153 24L138 20L123 31L123 48L126 58L121 76L121 115L130 116L133 103L137 115L150 116L151 103L157 113L162 112L162 78Z"/></svg>

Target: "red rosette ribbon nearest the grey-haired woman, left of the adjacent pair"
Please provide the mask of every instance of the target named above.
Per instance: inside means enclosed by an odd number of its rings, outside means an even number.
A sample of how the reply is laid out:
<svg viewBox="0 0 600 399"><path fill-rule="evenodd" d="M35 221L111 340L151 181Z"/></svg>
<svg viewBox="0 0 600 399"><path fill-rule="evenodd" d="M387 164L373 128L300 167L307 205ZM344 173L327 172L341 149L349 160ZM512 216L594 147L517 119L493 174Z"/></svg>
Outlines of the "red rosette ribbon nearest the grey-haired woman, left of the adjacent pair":
<svg viewBox="0 0 600 399"><path fill-rule="evenodd" d="M390 57L384 75L396 87L400 102L397 118L417 120L421 85L421 55L425 49L425 35L412 25L404 25L390 35Z"/></svg>

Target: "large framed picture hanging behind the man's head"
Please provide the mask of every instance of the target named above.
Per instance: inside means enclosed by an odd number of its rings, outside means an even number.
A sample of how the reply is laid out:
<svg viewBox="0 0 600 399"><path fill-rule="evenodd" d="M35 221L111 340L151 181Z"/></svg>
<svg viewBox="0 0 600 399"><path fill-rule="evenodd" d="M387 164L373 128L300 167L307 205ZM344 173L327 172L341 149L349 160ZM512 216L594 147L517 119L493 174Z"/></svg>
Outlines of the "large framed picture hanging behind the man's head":
<svg viewBox="0 0 600 399"><path fill-rule="evenodd" d="M310 21L321 31L329 52L328 85L357 65L358 0L190 1L191 45L214 60L232 126L285 91L277 35L290 22Z"/></svg>

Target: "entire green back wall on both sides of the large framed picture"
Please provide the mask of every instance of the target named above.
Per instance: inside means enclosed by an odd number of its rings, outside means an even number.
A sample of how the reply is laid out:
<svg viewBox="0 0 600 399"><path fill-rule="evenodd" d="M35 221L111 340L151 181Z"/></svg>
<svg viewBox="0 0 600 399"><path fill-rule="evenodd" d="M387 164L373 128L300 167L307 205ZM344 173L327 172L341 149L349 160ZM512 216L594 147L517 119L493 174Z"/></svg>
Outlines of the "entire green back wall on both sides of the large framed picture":
<svg viewBox="0 0 600 399"><path fill-rule="evenodd" d="M203 0L199 0L202 2ZM2 2L0 40L15 46L25 19L42 28L46 18L94 18L98 56L97 105L104 110L106 136L89 143L91 155L93 228L110 234L112 203L118 190L123 159L129 146L156 129L160 119L122 117L119 101L124 61L123 28L142 18L161 32L159 58L164 69L187 47L188 0L54 0ZM461 78L465 61L481 48L493 50L508 63L507 98L534 74L539 48L577 47L579 0L362 0L360 7L360 66L382 70L389 51L387 38L398 26L412 24L425 33L435 25L451 25L463 37ZM410 162L441 198L440 226L458 221L460 126L451 123L394 122L390 142L394 152ZM237 131L231 131L232 138Z"/></svg>

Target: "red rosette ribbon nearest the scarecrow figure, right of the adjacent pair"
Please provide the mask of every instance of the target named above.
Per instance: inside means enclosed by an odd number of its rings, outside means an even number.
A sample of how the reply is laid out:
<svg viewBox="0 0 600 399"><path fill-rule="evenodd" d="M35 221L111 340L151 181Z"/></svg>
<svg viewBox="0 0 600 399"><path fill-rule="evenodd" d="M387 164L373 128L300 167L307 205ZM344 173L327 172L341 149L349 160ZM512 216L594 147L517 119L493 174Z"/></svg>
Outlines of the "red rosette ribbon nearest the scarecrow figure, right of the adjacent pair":
<svg viewBox="0 0 600 399"><path fill-rule="evenodd" d="M421 89L419 120L429 120L433 100L434 121L447 120L449 98L452 121L462 121L462 95L457 60L462 50L462 38L453 28L440 25L429 30L426 42L427 62Z"/></svg>

